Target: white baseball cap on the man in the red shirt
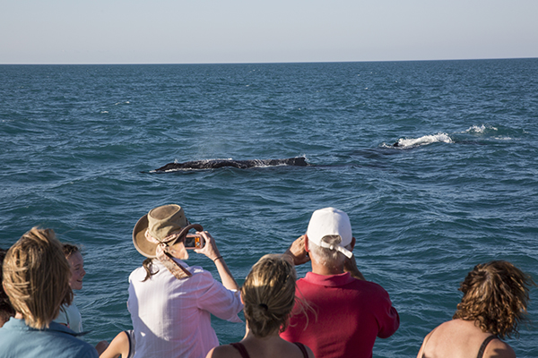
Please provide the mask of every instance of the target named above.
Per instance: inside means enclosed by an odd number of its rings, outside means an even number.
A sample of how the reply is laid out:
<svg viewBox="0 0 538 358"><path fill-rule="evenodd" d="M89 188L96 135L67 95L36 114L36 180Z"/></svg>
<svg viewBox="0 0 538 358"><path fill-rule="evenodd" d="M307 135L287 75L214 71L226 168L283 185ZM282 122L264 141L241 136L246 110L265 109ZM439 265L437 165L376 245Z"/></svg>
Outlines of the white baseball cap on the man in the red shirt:
<svg viewBox="0 0 538 358"><path fill-rule="evenodd" d="M338 235L342 238L342 242L337 245L326 243L323 240L326 235ZM342 210L325 208L314 211L308 223L307 236L308 241L316 243L317 246L340 251L351 259L351 251L345 248L353 238L350 217Z"/></svg>

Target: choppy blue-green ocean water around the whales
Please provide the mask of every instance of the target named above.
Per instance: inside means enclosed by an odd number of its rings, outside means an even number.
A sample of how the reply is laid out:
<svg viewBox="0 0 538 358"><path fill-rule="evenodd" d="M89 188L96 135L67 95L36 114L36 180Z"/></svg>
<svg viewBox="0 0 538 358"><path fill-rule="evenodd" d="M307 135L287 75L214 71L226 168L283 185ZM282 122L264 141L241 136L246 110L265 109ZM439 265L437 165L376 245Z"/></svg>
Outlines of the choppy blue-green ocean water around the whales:
<svg viewBox="0 0 538 358"><path fill-rule="evenodd" d="M75 301L92 344L131 328L127 277L143 261L131 233L166 203L213 234L239 284L312 211L346 211L360 270L400 313L377 357L415 356L475 264L510 260L538 281L538 59L0 65L0 140L0 247L32 226L83 245ZM311 166L151 173L291 157ZM534 322L536 301L533 288ZM244 335L213 327L221 344ZM538 356L533 326L508 344Z"/></svg>

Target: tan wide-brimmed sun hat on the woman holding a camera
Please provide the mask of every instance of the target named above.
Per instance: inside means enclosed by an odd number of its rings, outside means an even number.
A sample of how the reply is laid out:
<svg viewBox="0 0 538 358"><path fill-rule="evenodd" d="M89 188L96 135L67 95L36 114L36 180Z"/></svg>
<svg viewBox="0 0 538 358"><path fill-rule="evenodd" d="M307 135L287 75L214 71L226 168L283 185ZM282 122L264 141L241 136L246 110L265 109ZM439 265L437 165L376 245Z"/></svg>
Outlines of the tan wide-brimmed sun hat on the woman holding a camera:
<svg viewBox="0 0 538 358"><path fill-rule="evenodd" d="M194 228L202 231L204 228L199 224L191 225L183 208L176 204L163 205L151 209L149 213L141 217L133 229L134 247L143 256L153 259L158 243L152 243L146 238L147 234L157 239L161 243L173 245L178 239L185 236L188 231Z"/></svg>

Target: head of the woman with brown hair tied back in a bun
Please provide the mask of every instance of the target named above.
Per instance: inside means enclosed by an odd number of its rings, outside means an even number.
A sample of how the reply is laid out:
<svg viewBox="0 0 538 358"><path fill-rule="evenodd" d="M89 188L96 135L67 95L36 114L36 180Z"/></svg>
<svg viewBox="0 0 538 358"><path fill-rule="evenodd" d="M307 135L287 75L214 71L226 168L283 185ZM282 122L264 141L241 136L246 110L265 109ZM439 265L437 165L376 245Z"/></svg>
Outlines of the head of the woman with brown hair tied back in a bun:
<svg viewBox="0 0 538 358"><path fill-rule="evenodd" d="M255 337L286 328L295 305L296 279L295 267L286 255L265 255L252 267L241 287L241 300Z"/></svg>

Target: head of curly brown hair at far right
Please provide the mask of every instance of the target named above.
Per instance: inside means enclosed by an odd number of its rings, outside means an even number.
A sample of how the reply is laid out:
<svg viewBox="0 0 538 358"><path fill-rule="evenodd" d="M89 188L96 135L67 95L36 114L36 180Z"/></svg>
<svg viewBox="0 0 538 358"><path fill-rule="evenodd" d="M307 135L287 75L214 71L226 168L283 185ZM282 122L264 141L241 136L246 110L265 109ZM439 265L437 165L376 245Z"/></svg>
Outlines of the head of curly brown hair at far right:
<svg viewBox="0 0 538 358"><path fill-rule="evenodd" d="M482 331L501 338L517 336L531 285L532 277L508 261L476 265L459 288L464 297L453 318L475 321Z"/></svg>

